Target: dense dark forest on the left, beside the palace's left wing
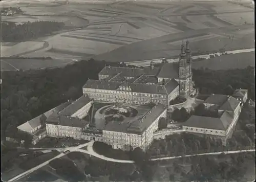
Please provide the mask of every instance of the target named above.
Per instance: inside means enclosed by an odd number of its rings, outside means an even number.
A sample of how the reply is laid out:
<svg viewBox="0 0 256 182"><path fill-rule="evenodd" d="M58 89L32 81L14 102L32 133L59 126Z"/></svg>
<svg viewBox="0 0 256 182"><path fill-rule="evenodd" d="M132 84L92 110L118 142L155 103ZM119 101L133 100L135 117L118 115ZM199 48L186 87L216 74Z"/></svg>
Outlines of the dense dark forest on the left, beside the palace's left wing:
<svg viewBox="0 0 256 182"><path fill-rule="evenodd" d="M88 79L98 79L105 65L124 66L105 61L79 61L63 68L1 72L1 134L53 107L82 95Z"/></svg>

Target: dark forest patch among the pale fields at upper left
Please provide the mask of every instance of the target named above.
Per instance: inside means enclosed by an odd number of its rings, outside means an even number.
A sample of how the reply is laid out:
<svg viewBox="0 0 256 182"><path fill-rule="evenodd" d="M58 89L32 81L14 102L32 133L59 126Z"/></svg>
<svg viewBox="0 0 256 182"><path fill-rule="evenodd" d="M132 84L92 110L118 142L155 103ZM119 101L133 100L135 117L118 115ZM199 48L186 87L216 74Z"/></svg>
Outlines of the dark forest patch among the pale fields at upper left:
<svg viewBox="0 0 256 182"><path fill-rule="evenodd" d="M1 22L1 41L20 42L42 37L54 31L61 30L65 24L55 21L35 21L15 24L15 22Z"/></svg>

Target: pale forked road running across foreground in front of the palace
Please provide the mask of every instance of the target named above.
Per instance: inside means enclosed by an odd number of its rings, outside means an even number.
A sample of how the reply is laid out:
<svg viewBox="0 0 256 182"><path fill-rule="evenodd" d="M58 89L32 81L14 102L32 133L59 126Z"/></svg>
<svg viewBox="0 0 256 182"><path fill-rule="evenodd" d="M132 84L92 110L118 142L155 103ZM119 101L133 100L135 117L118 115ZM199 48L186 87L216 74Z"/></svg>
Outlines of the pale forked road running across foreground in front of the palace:
<svg viewBox="0 0 256 182"><path fill-rule="evenodd" d="M117 160L117 159L114 159L114 158L109 158L109 157L105 157L103 155L99 155L98 153L96 153L94 150L93 150L93 143L94 141L91 141L89 143L86 143L86 144L82 144L82 145L79 145L77 147L68 147L66 148L65 150L70 150L70 152L83 152L83 153L87 153L89 155L93 155L95 157L98 157L102 160L105 160L105 161L111 161L111 162L116 162L116 163L134 163L134 161L129 161L129 160ZM82 147L85 147L87 146L87 150L82 150L80 148ZM236 151L225 151L225 152L210 152L210 153L200 153L200 154L193 154L193 155L184 155L184 156L172 156L172 157L161 157L161 158L153 158L151 159L151 161L161 161L161 160L170 160L170 159L174 159L174 158L181 158L181 157L189 157L189 156L196 156L196 155L219 155L221 153L224 153L224 154L230 154L230 153L241 153L241 152L251 152L251 151L255 151L255 149L252 149L252 150L236 150ZM60 158L62 156L64 156L66 154L64 153L60 153L59 155L51 158L50 160L32 168L32 169L29 169L28 171L25 171L15 177L13 177L12 179L8 180L8 181L16 181L30 173L32 173L33 171L43 167L43 166L46 166L48 165L51 161L55 160L56 158Z"/></svg>

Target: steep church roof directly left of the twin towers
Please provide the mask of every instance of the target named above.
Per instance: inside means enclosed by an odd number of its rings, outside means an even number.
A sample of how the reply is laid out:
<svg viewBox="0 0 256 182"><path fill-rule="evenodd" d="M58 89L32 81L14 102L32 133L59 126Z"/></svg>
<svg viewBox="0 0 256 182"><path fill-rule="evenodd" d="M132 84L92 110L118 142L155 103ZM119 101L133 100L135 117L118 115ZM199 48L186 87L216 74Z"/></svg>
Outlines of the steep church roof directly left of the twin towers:
<svg viewBox="0 0 256 182"><path fill-rule="evenodd" d="M179 64L178 63L163 64L157 77L178 79L179 78Z"/></svg>

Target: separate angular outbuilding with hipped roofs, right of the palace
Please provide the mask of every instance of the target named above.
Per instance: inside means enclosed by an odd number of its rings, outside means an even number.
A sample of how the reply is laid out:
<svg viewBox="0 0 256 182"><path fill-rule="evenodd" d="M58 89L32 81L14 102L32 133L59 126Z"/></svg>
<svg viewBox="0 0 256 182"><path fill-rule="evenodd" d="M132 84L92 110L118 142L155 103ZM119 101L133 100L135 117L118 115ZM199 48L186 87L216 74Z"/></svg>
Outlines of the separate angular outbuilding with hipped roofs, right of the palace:
<svg viewBox="0 0 256 182"><path fill-rule="evenodd" d="M217 109L219 118L191 116L183 125L186 132L207 134L218 137L226 145L227 139L238 121L243 103L247 100L247 90L237 89L232 96L212 94L205 101L208 109Z"/></svg>

